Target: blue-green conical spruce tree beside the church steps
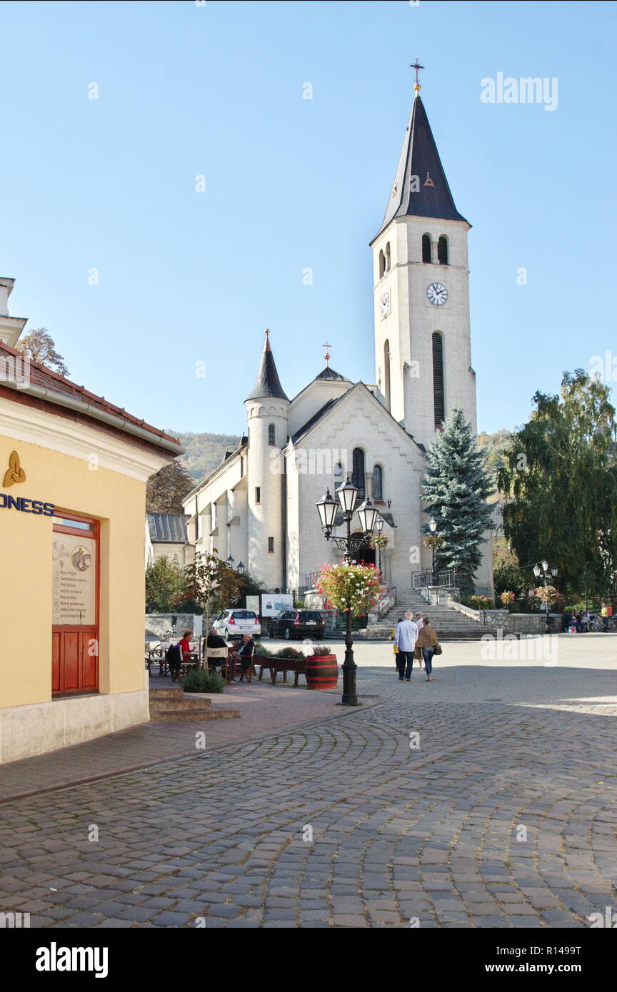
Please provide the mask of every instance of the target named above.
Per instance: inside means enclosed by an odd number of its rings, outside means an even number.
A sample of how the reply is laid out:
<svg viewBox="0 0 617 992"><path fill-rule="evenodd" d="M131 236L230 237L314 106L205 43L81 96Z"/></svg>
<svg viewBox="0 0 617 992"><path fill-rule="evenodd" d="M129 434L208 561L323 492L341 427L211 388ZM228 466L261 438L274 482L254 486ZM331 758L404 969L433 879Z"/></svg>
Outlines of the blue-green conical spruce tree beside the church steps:
<svg viewBox="0 0 617 992"><path fill-rule="evenodd" d="M423 483L426 513L434 517L443 543L435 548L435 566L459 574L463 595L473 592L473 574L480 564L484 531L491 528L486 500L492 485L486 456L478 451L471 425L461 410L453 410L427 455ZM427 528L428 530L428 528Z"/></svg>

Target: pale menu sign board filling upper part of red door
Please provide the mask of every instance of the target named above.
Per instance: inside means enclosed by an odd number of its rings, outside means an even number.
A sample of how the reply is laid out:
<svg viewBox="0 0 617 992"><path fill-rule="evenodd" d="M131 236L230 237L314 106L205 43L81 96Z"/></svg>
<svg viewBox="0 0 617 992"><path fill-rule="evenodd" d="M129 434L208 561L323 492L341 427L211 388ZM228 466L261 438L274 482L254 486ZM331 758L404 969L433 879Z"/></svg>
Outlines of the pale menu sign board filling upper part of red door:
<svg viewBox="0 0 617 992"><path fill-rule="evenodd" d="M54 534L54 619L56 625L96 623L96 541Z"/></svg>

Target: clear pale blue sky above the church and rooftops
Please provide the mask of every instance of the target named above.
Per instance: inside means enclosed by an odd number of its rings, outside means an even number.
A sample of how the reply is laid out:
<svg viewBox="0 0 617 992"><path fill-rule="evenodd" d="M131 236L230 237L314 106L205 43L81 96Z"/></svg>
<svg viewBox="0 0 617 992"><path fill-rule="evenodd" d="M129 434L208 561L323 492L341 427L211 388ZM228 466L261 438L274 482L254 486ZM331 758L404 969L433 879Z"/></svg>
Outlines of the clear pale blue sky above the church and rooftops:
<svg viewBox="0 0 617 992"><path fill-rule="evenodd" d="M266 326L288 395L326 337L372 382L368 242L418 55L473 225L478 426L514 428L562 370L617 353L616 21L607 2L0 3L11 312L158 427L240 434ZM483 103L498 72L556 76L556 110Z"/></svg>

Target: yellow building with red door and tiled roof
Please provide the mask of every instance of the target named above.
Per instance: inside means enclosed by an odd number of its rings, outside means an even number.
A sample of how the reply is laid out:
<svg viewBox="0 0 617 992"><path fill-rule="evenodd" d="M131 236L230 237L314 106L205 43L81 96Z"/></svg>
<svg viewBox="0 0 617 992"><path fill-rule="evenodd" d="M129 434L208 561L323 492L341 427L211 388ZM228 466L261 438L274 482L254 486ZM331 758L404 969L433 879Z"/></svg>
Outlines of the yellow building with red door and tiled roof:
<svg viewBox="0 0 617 992"><path fill-rule="evenodd" d="M180 442L12 345L0 279L0 762L149 719L146 480Z"/></svg>

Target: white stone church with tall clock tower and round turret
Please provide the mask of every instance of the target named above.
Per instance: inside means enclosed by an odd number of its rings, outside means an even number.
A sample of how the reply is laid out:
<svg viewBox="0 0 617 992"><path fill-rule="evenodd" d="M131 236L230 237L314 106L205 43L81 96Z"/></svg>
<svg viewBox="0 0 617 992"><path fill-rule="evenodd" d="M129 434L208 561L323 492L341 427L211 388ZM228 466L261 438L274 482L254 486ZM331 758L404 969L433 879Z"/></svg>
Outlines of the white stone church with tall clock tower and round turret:
<svg viewBox="0 0 617 992"><path fill-rule="evenodd" d="M347 475L358 504L369 496L384 521L384 582L411 589L412 572L431 567L432 558L423 544L425 453L454 407L477 433L471 225L454 205L418 81L414 88L394 184L371 242L373 384L334 371L326 346L325 367L290 399L266 331L245 401L247 434L185 497L196 554L242 561L271 591L302 596L321 565L340 559L323 537L315 504ZM352 530L360 531L357 516ZM492 595L490 547L484 545L476 573L476 588L486 595ZM367 545L357 560L375 561L375 552Z"/></svg>

